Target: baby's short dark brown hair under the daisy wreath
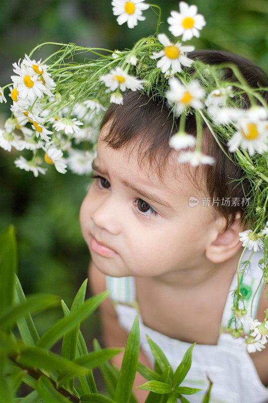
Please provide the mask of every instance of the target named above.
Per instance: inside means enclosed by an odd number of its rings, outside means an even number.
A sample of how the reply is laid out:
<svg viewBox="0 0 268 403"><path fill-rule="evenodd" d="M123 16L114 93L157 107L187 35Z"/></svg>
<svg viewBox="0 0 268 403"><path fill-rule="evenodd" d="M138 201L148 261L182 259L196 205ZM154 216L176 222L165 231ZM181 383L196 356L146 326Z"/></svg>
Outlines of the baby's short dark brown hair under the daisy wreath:
<svg viewBox="0 0 268 403"><path fill-rule="evenodd" d="M252 88L267 87L267 76L254 63L246 58L219 50L198 50L189 53L191 59L199 59L206 64L235 64L247 83ZM237 81L231 69L225 69L225 78L228 81ZM262 93L265 100L268 93ZM249 107L248 100L245 100ZM149 161L150 167L156 166L160 179L163 177L164 169L167 165L170 154L174 150L169 147L168 141L170 135L177 131L180 117L175 119L170 113L168 105L154 98L149 98L146 94L140 94L138 91L129 91L124 95L123 105L111 104L102 121L101 127L106 123L112 122L109 130L104 137L104 141L113 149L122 147L137 148L138 164L141 167L144 159ZM196 136L196 120L194 114L188 114L186 120L186 132ZM192 167L189 163L180 164L180 169L188 175L193 185L198 190L205 191L211 199L220 200L218 206L214 205L215 218L218 215L226 219L225 230L234 223L236 213L241 213L240 222L243 223L244 207L240 204L236 206L223 206L222 198L238 197L241 200L250 190L250 182L244 178L241 182L231 181L231 179L241 179L244 177L244 171L230 161L222 152L207 126L204 126L202 138L202 152L215 158L215 165L199 165ZM228 147L222 142L223 149L228 151ZM186 150L184 150L186 151ZM130 151L131 153L131 151ZM199 175L198 175L199 174ZM206 189L200 187L200 174L205 178ZM246 225L246 223L244 223Z"/></svg>

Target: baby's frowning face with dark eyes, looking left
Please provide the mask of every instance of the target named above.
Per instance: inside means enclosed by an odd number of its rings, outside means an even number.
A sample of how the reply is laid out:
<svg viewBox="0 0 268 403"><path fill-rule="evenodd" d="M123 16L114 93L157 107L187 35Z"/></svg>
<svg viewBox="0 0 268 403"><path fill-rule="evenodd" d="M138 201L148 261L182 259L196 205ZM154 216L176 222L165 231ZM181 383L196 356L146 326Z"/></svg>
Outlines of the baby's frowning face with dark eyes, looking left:
<svg viewBox="0 0 268 403"><path fill-rule="evenodd" d="M163 185L148 166L138 167L135 151L128 160L124 148L113 150L104 143L106 129L93 163L100 178L94 179L80 209L82 235L97 268L114 277L150 277L204 263L214 221L213 208L201 207L206 195L198 194L185 175L178 180L171 168ZM190 196L199 199L198 206L189 206ZM94 238L116 253L94 250Z"/></svg>

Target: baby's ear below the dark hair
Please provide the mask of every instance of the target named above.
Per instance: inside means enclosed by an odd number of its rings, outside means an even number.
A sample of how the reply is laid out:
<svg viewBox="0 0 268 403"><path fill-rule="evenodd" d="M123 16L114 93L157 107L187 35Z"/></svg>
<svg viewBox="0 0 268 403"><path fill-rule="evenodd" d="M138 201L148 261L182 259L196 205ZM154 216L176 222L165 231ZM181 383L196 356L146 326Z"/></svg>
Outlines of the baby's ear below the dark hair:
<svg viewBox="0 0 268 403"><path fill-rule="evenodd" d="M220 263L228 260L241 248L239 232L243 232L243 224L240 224L240 217L241 213L237 212L235 222L227 230L224 230L226 225L224 217L215 220L211 241L205 250L210 261Z"/></svg>

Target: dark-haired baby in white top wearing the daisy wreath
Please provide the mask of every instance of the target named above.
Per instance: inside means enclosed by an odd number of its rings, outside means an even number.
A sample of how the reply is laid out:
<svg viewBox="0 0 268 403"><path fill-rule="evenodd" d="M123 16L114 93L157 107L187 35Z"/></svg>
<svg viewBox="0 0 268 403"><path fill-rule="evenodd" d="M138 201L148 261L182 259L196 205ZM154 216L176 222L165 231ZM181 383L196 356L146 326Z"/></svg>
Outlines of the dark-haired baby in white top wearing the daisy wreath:
<svg viewBox="0 0 268 403"><path fill-rule="evenodd" d="M250 86L267 86L264 73L243 57L213 50L189 57L209 64L234 63ZM235 81L230 70L226 77ZM139 361L147 367L154 369L146 334L173 370L187 348L197 343L183 385L203 392L185 401L201 403L208 375L213 381L210 402L261 403L268 400L268 349L249 354L241 340L223 330L244 249L239 232L249 228L241 222L243 206L201 203L207 197L241 200L249 183L227 183L244 173L224 155L207 127L202 152L216 164L178 163L178 151L168 145L170 132L177 131L172 124L167 106L138 91L127 93L123 105L112 104L102 122L95 179L81 205L80 225L92 256L92 293L111 289L100 307L105 344L125 347L138 313ZM196 136L192 114L186 131ZM242 260L249 255L246 249ZM261 252L254 252L245 276L252 291L248 304L261 280L260 258ZM262 283L253 300L254 319L262 321L266 307ZM123 353L112 359L119 368ZM146 381L137 373L133 392L140 402L148 391L135 386Z"/></svg>

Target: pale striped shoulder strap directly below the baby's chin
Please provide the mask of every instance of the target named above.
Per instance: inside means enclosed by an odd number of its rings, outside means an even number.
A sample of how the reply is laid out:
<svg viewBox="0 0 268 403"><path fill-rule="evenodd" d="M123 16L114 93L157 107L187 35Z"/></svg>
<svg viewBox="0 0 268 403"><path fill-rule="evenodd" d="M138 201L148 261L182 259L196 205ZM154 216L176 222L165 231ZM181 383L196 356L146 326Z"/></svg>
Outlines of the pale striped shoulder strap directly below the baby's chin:
<svg viewBox="0 0 268 403"><path fill-rule="evenodd" d="M106 289L110 290L110 298L115 302L133 304L136 300L135 277L106 276Z"/></svg>

